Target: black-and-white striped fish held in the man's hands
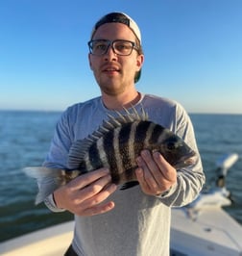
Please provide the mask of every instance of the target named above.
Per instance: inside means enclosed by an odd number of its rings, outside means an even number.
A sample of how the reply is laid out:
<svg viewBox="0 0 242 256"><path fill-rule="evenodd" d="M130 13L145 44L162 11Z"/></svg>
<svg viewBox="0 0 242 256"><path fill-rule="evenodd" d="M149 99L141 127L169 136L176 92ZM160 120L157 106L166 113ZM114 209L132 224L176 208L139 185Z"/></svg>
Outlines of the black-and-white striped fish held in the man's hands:
<svg viewBox="0 0 242 256"><path fill-rule="evenodd" d="M116 115L108 115L92 134L73 142L68 154L68 168L24 168L24 172L33 178L55 180L55 188L38 192L36 204L79 175L101 167L109 168L111 182L121 185L120 190L138 185L135 159L144 149L159 152L177 170L195 164L197 153L178 135L149 120L143 107L140 114L134 107L130 111L124 110L125 114L116 111Z"/></svg>

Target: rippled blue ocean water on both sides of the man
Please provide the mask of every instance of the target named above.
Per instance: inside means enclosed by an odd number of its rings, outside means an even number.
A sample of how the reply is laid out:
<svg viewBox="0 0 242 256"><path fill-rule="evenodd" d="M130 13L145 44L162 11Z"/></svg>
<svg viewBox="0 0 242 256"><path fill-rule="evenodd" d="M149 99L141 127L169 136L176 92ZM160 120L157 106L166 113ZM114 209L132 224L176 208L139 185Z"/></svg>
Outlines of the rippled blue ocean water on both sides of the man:
<svg viewBox="0 0 242 256"><path fill-rule="evenodd" d="M240 159L230 168L227 187L234 203L225 210L242 224L242 115L190 115L206 172L207 186L215 162L225 153ZM0 242L72 219L35 206L35 180L22 172L40 166L49 149L60 113L0 111Z"/></svg>

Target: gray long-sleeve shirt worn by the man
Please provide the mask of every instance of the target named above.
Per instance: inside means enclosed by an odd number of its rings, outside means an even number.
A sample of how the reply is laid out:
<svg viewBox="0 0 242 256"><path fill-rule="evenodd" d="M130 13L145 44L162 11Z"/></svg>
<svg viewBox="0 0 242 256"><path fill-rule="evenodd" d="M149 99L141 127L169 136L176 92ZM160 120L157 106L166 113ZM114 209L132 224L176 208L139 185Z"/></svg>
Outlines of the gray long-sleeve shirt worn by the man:
<svg viewBox="0 0 242 256"><path fill-rule="evenodd" d="M190 118L175 101L142 94L134 106L141 107L149 119L170 129L198 152ZM97 97L69 107L60 118L44 166L67 166L71 144L98 129L112 111L106 109ZM199 156L199 153L198 153ZM166 256L169 255L171 207L180 207L193 201L205 183L200 157L195 166L178 170L176 186L164 196L146 195L139 186L126 191L117 190L109 196L115 208L107 214L93 217L75 216L73 247L78 255L86 256ZM52 186L42 180L39 190ZM54 186L54 185L53 185ZM46 205L58 209L52 196Z"/></svg>

